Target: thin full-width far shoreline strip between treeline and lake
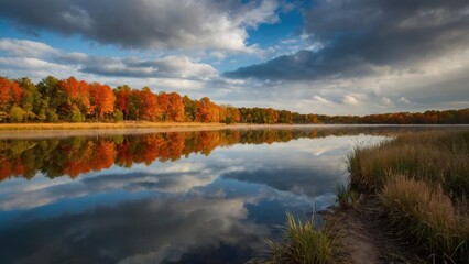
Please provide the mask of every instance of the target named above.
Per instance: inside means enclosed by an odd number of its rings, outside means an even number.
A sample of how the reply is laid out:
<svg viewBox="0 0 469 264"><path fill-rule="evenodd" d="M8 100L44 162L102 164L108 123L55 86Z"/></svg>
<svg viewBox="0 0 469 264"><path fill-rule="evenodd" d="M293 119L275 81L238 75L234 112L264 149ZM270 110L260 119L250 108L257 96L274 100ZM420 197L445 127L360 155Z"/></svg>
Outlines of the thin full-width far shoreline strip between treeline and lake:
<svg viewBox="0 0 469 264"><path fill-rule="evenodd" d="M255 124L255 123L201 123L201 122L119 122L119 123L0 123L0 140L51 139L68 136L100 136L146 134L164 132L190 132L216 130L259 130L259 129L399 129L399 128L435 128L460 129L469 124Z"/></svg>

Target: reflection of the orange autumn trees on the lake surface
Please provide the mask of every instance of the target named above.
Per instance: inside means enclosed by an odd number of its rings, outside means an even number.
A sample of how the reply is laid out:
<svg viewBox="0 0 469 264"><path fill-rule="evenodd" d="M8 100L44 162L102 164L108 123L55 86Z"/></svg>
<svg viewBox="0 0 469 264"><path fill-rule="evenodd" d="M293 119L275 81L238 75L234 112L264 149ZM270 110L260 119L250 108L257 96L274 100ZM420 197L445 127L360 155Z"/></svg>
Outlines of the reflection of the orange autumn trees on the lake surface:
<svg viewBox="0 0 469 264"><path fill-rule="evenodd" d="M410 130L407 128L405 130ZM415 128L414 128L415 129ZM418 128L417 128L418 129ZM67 139L0 140L0 180L11 176L32 178L42 173L50 178L68 175L76 177L99 172L113 164L131 167L154 161L177 161L182 156L201 153L209 155L217 147L233 144L272 144L302 138L358 133L389 134L401 128L329 128L329 129L270 129L218 130L199 132L149 133L140 135L72 136ZM320 154L326 148L313 153Z"/></svg>

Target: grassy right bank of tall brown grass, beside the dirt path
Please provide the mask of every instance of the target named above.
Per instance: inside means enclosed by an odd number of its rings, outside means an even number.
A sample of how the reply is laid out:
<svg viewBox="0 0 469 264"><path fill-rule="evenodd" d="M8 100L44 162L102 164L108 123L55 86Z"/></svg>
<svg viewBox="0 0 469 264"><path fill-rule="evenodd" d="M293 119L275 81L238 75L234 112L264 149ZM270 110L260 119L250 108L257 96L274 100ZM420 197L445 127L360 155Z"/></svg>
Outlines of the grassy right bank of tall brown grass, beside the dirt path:
<svg viewBox="0 0 469 264"><path fill-rule="evenodd" d="M380 199L402 242L428 262L469 263L469 131L402 134L348 163L350 188Z"/></svg>

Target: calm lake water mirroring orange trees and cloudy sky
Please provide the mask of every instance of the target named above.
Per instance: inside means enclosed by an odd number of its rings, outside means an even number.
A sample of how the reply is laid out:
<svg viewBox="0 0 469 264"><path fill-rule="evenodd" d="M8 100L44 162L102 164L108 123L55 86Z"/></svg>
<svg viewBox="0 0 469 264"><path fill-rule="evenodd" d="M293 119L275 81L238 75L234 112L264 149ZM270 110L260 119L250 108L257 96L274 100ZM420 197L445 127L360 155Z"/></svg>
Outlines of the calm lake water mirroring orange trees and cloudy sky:
<svg viewBox="0 0 469 264"><path fill-rule="evenodd" d="M353 146L419 129L4 136L0 263L244 263L335 204Z"/></svg>

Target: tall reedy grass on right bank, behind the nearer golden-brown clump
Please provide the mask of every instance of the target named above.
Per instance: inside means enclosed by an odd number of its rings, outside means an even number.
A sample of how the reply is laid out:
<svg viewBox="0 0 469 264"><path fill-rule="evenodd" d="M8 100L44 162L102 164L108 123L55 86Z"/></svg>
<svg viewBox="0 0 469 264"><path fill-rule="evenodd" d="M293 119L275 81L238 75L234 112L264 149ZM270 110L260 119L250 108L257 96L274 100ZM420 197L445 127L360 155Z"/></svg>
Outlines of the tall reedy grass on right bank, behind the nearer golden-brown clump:
<svg viewBox="0 0 469 264"><path fill-rule="evenodd" d="M458 196L469 190L469 131L403 134L348 156L351 184L379 190L388 175L438 183Z"/></svg>

